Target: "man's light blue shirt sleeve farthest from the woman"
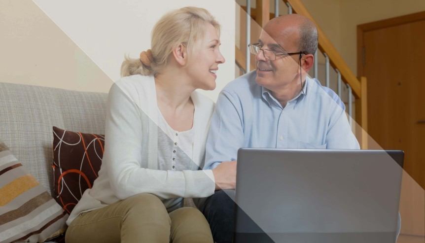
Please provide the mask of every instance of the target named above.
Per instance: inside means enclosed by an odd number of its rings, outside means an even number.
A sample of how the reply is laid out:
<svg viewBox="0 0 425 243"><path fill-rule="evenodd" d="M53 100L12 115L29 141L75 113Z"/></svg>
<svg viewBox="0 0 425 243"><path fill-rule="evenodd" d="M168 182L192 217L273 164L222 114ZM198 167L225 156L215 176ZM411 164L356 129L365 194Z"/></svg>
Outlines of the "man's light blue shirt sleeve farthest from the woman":
<svg viewBox="0 0 425 243"><path fill-rule="evenodd" d="M326 134L326 148L360 149L360 145L348 122L345 106L336 102L333 107L329 129Z"/></svg>

